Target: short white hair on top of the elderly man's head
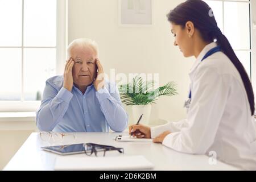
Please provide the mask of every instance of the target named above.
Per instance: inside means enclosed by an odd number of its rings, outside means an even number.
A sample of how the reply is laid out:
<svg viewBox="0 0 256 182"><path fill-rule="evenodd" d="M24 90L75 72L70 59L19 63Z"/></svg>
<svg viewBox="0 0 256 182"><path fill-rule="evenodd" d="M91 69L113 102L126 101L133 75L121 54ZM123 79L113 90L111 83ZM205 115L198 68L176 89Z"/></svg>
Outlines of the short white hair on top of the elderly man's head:
<svg viewBox="0 0 256 182"><path fill-rule="evenodd" d="M74 47L90 47L95 51L96 55L98 55L98 44L91 39L81 38L75 39L68 45L68 57L71 56L71 51Z"/></svg>

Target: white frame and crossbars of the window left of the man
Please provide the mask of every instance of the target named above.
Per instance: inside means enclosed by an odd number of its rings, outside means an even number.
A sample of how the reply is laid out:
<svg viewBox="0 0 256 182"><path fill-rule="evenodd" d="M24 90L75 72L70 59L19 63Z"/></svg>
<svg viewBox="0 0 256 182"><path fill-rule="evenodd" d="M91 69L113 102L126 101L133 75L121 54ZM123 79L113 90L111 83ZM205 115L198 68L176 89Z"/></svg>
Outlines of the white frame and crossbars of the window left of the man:
<svg viewBox="0 0 256 182"><path fill-rule="evenodd" d="M64 70L67 49L67 3L68 0L56 1L56 75L61 75ZM22 0L22 39L23 39L23 17L24 17L24 0ZM19 48L22 48L22 46ZM3 47L1 47L3 48ZM45 47L44 47L45 48ZM23 87L23 51L22 51L22 87ZM22 88L23 90L23 88ZM0 112L23 112L38 110L41 101L0 101Z"/></svg>

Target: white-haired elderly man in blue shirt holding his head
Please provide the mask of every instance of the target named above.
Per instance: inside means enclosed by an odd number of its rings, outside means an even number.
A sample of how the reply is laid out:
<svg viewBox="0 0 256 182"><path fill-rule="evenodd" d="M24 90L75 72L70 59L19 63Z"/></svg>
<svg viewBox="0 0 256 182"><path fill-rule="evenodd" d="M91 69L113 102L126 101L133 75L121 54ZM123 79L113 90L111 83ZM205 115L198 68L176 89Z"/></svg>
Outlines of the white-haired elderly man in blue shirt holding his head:
<svg viewBox="0 0 256 182"><path fill-rule="evenodd" d="M43 99L36 112L41 131L121 132L127 126L118 89L104 80L97 44L76 39L68 46L64 76L46 81Z"/></svg>

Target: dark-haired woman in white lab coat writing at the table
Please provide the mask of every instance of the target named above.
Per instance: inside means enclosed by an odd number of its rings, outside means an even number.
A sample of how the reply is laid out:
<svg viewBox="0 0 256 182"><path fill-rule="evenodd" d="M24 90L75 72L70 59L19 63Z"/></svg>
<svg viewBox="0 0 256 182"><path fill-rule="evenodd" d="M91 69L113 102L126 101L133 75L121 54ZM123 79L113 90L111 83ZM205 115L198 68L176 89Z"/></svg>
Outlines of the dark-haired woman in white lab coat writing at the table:
<svg viewBox="0 0 256 182"><path fill-rule="evenodd" d="M256 169L253 88L212 10L201 0L188 0L167 17L174 45L184 57L196 57L189 72L187 119L156 127L132 125L129 133L188 154L215 151L222 162Z"/></svg>

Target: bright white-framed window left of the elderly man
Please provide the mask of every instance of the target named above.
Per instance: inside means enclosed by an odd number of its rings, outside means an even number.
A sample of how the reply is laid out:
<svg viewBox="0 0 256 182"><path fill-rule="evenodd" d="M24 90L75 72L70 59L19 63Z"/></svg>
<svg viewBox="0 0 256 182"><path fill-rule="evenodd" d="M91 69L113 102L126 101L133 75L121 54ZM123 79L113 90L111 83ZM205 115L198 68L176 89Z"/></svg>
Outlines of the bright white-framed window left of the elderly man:
<svg viewBox="0 0 256 182"><path fill-rule="evenodd" d="M0 0L0 111L38 109L65 63L63 0Z"/></svg>

